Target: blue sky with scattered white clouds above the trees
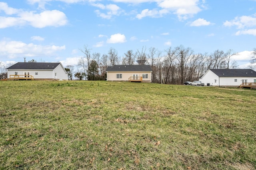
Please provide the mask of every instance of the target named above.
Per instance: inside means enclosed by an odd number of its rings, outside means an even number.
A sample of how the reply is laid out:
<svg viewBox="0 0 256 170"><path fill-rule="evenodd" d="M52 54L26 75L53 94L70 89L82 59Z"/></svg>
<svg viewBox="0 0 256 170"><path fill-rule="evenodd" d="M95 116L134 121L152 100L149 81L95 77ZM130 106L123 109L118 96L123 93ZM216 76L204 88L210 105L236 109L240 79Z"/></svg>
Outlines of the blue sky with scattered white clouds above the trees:
<svg viewBox="0 0 256 170"><path fill-rule="evenodd" d="M128 50L183 45L216 50L246 68L256 48L256 0L0 0L0 62L77 64L80 49L122 58Z"/></svg>

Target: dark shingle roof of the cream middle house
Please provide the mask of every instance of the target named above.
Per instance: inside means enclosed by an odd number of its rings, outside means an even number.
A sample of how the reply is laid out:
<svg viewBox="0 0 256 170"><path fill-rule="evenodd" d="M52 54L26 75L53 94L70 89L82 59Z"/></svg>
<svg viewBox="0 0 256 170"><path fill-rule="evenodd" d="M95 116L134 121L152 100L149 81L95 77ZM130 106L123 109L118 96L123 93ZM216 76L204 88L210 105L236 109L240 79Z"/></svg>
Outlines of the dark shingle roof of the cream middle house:
<svg viewBox="0 0 256 170"><path fill-rule="evenodd" d="M108 66L106 71L152 71L150 65L114 65Z"/></svg>

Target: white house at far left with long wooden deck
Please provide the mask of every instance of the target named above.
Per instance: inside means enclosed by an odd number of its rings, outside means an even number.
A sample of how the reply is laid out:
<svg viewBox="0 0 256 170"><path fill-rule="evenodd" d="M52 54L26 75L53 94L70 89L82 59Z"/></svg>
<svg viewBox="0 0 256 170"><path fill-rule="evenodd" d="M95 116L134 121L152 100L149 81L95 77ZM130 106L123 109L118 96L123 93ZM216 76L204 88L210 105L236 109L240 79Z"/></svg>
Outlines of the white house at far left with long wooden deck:
<svg viewBox="0 0 256 170"><path fill-rule="evenodd" d="M18 62L7 68L10 79L62 79L68 80L68 73L61 63Z"/></svg>

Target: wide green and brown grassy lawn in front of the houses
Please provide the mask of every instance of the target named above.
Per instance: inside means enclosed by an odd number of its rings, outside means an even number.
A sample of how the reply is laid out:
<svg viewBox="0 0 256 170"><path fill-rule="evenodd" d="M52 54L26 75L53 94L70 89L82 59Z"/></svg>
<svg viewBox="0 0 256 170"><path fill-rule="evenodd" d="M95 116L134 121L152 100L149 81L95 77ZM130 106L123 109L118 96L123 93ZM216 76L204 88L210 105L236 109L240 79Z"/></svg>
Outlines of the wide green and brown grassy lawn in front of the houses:
<svg viewBox="0 0 256 170"><path fill-rule="evenodd" d="M256 90L0 82L0 169L256 169Z"/></svg>

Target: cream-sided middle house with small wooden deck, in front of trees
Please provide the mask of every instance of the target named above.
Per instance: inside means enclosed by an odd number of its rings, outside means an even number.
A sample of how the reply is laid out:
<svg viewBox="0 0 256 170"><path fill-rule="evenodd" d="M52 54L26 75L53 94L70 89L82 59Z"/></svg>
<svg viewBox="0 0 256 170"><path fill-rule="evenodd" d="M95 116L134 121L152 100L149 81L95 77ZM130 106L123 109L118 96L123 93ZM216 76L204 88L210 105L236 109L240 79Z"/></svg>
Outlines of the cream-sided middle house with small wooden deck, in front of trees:
<svg viewBox="0 0 256 170"><path fill-rule="evenodd" d="M114 65L106 72L107 81L151 82L150 65Z"/></svg>

